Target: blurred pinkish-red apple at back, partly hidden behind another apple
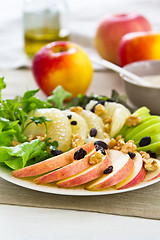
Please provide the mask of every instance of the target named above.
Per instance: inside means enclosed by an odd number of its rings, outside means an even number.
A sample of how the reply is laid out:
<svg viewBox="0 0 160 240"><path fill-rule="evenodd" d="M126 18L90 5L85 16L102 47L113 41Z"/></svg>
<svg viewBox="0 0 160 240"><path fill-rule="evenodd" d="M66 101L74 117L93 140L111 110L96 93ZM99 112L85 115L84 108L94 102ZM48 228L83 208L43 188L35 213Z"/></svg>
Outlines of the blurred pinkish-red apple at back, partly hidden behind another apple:
<svg viewBox="0 0 160 240"><path fill-rule="evenodd" d="M118 64L118 45L126 33L151 31L148 20L139 14L117 14L102 19L95 35L95 47L100 56Z"/></svg>

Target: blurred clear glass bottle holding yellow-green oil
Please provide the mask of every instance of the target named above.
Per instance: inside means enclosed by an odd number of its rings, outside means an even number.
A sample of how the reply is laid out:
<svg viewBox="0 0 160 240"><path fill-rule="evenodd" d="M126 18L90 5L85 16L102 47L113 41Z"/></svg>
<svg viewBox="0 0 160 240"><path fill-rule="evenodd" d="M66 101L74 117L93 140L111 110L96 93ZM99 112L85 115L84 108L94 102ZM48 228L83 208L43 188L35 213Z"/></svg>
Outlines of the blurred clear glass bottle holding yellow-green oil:
<svg viewBox="0 0 160 240"><path fill-rule="evenodd" d="M68 8L64 0L25 0L24 49L33 57L44 45L69 40Z"/></svg>

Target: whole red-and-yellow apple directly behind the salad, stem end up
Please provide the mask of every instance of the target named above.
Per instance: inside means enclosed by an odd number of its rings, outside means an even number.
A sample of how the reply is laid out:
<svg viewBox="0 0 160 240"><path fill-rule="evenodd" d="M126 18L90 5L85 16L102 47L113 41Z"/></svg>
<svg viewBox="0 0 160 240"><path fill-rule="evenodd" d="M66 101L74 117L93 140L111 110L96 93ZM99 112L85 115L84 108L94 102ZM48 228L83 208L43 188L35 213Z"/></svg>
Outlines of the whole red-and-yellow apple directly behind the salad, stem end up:
<svg viewBox="0 0 160 240"><path fill-rule="evenodd" d="M72 96L84 94L92 80L92 65L77 44L58 41L42 47L33 59L33 75L44 93L61 85Z"/></svg>

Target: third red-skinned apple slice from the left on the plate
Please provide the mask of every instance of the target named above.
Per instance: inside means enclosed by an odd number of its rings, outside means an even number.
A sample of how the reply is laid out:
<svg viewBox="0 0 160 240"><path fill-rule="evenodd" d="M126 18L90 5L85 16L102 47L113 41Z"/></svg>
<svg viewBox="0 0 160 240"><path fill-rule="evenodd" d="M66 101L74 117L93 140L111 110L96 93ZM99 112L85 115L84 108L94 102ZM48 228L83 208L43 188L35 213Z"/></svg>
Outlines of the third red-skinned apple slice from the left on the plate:
<svg viewBox="0 0 160 240"><path fill-rule="evenodd" d="M72 177L57 182L57 185L58 187L68 188L90 182L100 177L103 174L103 171L111 164L111 160L108 157L108 154L106 154L100 163L97 163Z"/></svg>

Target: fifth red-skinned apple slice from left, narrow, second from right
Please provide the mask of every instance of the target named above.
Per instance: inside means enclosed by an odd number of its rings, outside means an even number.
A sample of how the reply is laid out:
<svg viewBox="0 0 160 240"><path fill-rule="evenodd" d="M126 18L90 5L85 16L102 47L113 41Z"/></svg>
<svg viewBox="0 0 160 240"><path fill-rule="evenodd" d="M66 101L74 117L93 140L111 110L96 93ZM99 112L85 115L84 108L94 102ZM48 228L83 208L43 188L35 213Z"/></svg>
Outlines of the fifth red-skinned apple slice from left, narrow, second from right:
<svg viewBox="0 0 160 240"><path fill-rule="evenodd" d="M133 159L134 162L134 170L131 174L125 178L123 181L119 182L116 185L117 189L125 189L129 187L133 187L134 185L143 181L146 176L146 171L143 167L142 156L139 153L136 153L136 156Z"/></svg>

